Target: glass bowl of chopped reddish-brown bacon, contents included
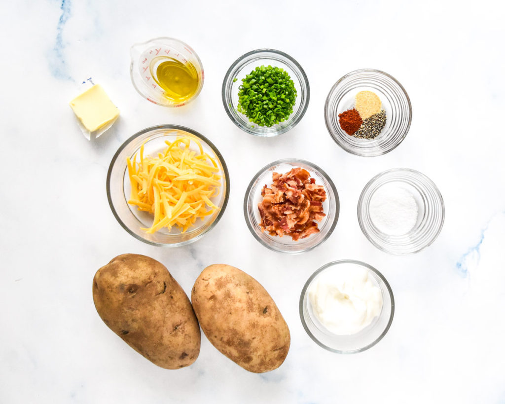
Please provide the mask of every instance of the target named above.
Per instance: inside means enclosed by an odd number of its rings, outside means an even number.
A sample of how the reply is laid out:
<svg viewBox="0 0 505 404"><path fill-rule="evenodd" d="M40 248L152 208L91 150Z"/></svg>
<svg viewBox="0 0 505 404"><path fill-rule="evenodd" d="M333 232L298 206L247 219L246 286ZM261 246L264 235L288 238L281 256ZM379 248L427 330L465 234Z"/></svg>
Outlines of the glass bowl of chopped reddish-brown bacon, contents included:
<svg viewBox="0 0 505 404"><path fill-rule="evenodd" d="M299 254L326 240L340 204L333 181L315 164L284 159L263 167L244 197L244 217L266 247Z"/></svg>

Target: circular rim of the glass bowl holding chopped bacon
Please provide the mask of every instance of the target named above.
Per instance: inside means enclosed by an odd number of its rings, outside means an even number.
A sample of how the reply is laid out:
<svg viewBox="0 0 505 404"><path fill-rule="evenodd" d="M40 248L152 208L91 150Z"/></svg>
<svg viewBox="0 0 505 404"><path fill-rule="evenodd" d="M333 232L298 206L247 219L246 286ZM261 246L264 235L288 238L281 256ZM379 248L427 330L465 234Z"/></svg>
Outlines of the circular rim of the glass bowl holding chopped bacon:
<svg viewBox="0 0 505 404"><path fill-rule="evenodd" d="M247 215L247 209L248 209L248 196L250 194L250 191L252 189L252 185L258 180L258 178L260 177L260 175L262 173L264 173L265 171L267 171L268 169L270 169L271 167L273 166L277 166L277 165L280 165L280 164L284 164L284 163L301 163L301 164L305 164L311 168L314 168L315 170L319 171L321 173L321 176L326 180L328 181L329 185L330 185L330 188L331 188L331 191L333 192L333 194L335 195L335 218L333 219L333 222L331 223L331 226L328 230L328 233L325 234L325 236L315 245L311 246L311 247L308 247L308 248L305 248L305 249L302 249L300 251L285 251L283 249L279 249L279 248L275 248L269 244L266 244L261 238L260 236L256 233L256 231L254 230L254 228L252 228L252 224L250 223L250 220L248 219L248 215ZM280 160L276 160L270 164L267 164L266 166L264 166L263 168L261 168L253 177L252 179L250 180L249 184L247 185L247 188L245 189L245 194L244 194L244 202L243 202L243 212L244 212L244 220L245 220L245 223L247 225L247 228L249 229L249 232L254 236L254 238L256 238L260 244L262 244L263 246L271 249L272 251L276 251L276 252L283 252L284 254L291 254L291 255L296 255L296 254L301 254L302 252L307 252L307 251L310 251L311 249L313 248L316 248L318 245L322 244L324 241L326 241L328 239L328 237L330 237L330 235L333 233L333 230L335 229L336 225L337 225L337 222L338 222L338 217L340 216L340 198L338 196L338 191L337 191L337 188L335 187L335 184L333 183L332 179L330 178L330 176L323 170L321 169L319 166L317 166L316 164L314 163L311 163L307 160L302 160L302 159L280 159Z"/></svg>

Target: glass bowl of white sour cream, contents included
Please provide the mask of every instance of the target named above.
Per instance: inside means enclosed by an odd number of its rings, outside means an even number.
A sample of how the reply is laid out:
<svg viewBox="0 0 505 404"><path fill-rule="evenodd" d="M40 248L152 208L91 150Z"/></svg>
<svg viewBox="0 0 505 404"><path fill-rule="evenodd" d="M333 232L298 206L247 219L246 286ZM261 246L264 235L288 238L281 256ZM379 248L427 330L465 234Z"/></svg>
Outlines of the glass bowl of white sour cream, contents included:
<svg viewBox="0 0 505 404"><path fill-rule="evenodd" d="M318 345L354 354L386 335L393 321L394 297L386 278L372 266L333 261L307 280L299 310L305 331Z"/></svg>

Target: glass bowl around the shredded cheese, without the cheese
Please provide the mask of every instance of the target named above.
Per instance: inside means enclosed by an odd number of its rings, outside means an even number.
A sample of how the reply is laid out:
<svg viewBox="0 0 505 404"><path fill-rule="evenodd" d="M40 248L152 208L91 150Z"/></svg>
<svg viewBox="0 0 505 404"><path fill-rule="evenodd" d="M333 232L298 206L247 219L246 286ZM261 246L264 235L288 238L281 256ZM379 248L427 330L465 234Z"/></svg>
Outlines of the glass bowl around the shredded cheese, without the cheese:
<svg viewBox="0 0 505 404"><path fill-rule="evenodd" d="M135 206L128 204L131 185L126 158L129 157L133 161L144 141L144 156L156 156L157 153L161 153L167 147L165 140L174 141L181 136L190 136L199 140L204 152L216 160L220 169L218 174L221 175L221 192L211 200L220 209L203 219L197 219L195 224L184 233L178 227L173 226L171 231L163 228L153 234L148 234L142 228L148 228L153 224L153 215L139 211ZM196 144L191 142L191 148L193 147L197 150ZM211 230L221 219L229 195L230 177L223 156L209 139L184 126L158 125L135 133L116 151L107 173L107 198L114 217L133 237L151 245L176 247L196 241Z"/></svg>

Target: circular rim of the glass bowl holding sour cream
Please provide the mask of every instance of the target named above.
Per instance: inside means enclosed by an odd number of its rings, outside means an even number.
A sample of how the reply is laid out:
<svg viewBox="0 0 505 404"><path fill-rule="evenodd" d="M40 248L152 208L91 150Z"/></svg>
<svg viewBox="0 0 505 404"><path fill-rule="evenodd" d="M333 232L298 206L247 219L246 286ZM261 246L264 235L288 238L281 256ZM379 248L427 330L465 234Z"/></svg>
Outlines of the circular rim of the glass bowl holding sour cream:
<svg viewBox="0 0 505 404"><path fill-rule="evenodd" d="M356 265L360 265L362 267L365 267L369 271L374 272L379 277L379 279L384 283L384 285L386 287L386 290L387 290L387 292L389 294L389 297L391 299L391 312L389 314L389 319L388 319L388 322L386 324L386 327L384 328L384 330L382 331L382 333L374 341L372 341L368 345L365 345L365 346L363 346L361 348L357 348L357 349L341 350L341 349L335 349L335 348L332 348L330 346L327 346L327 345L323 344L309 330L309 327L307 326L307 323L306 323L305 318L304 318L304 312L303 312L303 310L304 310L304 297L305 297L305 294L307 292L307 289L309 288L309 285L312 283L312 281L314 280L314 278L317 275L319 275L321 272L323 272L325 269L327 269L329 267L332 267L332 266L335 266L335 265L339 265L339 264L356 264ZM304 327L304 329L307 332L307 334L309 335L309 337L311 337L311 339L314 342L316 342L319 346L321 346L322 348L324 348L326 350L329 350L331 352L335 352L336 354L345 354L345 355L347 355L347 354L356 354L358 352L363 352L363 351L365 351L367 349L370 349L372 346L374 346L375 344L377 344L377 342L379 342L382 338L384 338L384 336L388 332L389 328L391 327L391 323L393 322L393 317L394 317L394 295L393 295L393 291L391 289L391 286L389 285L389 282L384 277L384 275L382 275L381 272L379 272L377 269L375 269L374 267L372 267L370 264L367 264L367 263L365 263L363 261L358 261L358 260L336 260L336 261L331 261L331 262L323 265L322 267L320 267L319 269L317 269L316 271L314 271L314 273L309 277L309 279L307 279L307 281L304 284L304 287L301 289L298 310L299 310L300 320L301 320L302 326Z"/></svg>

